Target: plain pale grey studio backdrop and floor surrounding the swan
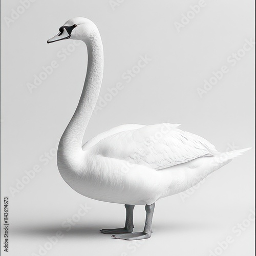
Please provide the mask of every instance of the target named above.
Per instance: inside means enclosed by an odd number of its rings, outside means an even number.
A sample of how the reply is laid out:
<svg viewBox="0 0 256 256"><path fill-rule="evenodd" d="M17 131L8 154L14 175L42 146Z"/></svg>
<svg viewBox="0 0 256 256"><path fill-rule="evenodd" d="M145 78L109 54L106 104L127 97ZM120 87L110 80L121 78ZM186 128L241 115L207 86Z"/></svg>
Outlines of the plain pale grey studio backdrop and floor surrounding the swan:
<svg viewBox="0 0 256 256"><path fill-rule="evenodd" d="M175 22L181 23L182 14L199 1L119 2L112 2L118 3L113 10L108 0L37 0L12 22L8 19L14 15L12 9L21 3L1 3L1 203L9 197L9 255L40 255L40 246L58 230L63 238L46 255L210 255L228 236L233 242L216 252L253 255L254 221L245 220L255 208L255 45L235 66L227 58L243 48L245 39L255 40L254 2L205 0L205 7L180 32ZM76 16L93 20L102 36L105 66L100 96L104 98L118 82L123 85L92 116L84 141L119 124L168 121L181 123L183 130L206 138L219 151L253 147L189 193L158 201L154 234L148 240L128 242L101 234L101 228L124 225L124 206L77 194L57 169L56 145L78 103L87 52L82 44L70 46L72 40L50 45L46 41ZM127 83L124 72L145 55L151 60ZM58 67L30 91L28 83L52 61ZM201 98L197 89L224 65L229 72ZM34 165L41 171L12 195L10 187L16 188ZM62 223L76 216L80 204L90 210L66 231ZM135 207L134 218L135 231L141 231L143 206ZM240 236L233 232L238 223L247 225Z"/></svg>

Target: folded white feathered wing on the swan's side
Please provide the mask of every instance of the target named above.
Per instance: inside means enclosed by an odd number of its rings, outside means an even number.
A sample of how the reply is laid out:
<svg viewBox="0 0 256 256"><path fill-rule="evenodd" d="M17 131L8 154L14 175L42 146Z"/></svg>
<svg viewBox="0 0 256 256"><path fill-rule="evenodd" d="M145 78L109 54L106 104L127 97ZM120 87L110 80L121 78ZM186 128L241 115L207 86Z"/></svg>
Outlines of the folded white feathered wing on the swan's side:
<svg viewBox="0 0 256 256"><path fill-rule="evenodd" d="M109 136L104 134L106 136L91 146L90 151L154 169L167 168L198 157L215 156L217 152L215 146L204 138L178 129L179 124L135 127L137 129L117 133L114 131L118 129L110 130L113 133L109 131Z"/></svg>

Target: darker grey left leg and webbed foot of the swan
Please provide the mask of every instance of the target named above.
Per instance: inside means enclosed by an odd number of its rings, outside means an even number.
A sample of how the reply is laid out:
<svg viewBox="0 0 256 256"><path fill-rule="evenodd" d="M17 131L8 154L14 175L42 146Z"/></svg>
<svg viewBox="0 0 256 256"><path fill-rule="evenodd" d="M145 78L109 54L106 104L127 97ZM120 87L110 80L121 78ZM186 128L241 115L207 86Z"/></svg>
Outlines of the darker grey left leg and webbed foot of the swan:
<svg viewBox="0 0 256 256"><path fill-rule="evenodd" d="M104 234L132 233L134 228L134 225L133 225L134 205L125 204L124 207L126 209L126 220L123 228L113 228L113 229L103 228L99 231L101 231Z"/></svg>

